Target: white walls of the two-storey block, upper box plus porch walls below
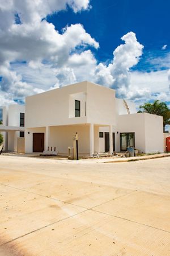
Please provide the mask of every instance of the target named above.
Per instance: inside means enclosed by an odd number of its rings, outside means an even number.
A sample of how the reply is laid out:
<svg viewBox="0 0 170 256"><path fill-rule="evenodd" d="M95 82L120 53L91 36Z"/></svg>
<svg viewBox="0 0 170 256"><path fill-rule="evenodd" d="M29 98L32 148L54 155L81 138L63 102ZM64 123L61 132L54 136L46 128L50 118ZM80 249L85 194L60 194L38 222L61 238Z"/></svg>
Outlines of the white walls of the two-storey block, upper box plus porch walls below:
<svg viewBox="0 0 170 256"><path fill-rule="evenodd" d="M80 117L75 117L75 100L80 101ZM55 144L54 146L62 153L67 153L67 147L73 145L73 135L77 130L81 145L79 152L89 154L89 124L92 123L94 125L94 152L99 152L99 125L110 125L116 122L115 91L90 82L79 82L50 90L26 98L25 117L27 130L49 127L49 143ZM79 125L86 125L87 128ZM35 129L33 131L36 132ZM28 138L31 136L25 135L25 152L32 150L32 138L31 142ZM45 141L48 140L45 139Z"/></svg>

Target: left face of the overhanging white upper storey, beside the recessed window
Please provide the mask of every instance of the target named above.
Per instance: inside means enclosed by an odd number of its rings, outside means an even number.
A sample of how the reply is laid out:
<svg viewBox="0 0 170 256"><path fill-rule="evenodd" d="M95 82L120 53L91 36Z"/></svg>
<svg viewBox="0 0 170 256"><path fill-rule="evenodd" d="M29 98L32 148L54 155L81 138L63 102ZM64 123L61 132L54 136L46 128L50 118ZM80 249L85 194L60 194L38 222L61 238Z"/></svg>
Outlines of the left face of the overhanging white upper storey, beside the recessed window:
<svg viewBox="0 0 170 256"><path fill-rule="evenodd" d="M71 117L75 111L73 94L78 96L74 95L74 100L80 100L81 93L85 94L86 90L87 82L80 82L27 97L25 100L25 127L87 123L87 117L84 114L82 117ZM73 108L72 111L69 107Z"/></svg>

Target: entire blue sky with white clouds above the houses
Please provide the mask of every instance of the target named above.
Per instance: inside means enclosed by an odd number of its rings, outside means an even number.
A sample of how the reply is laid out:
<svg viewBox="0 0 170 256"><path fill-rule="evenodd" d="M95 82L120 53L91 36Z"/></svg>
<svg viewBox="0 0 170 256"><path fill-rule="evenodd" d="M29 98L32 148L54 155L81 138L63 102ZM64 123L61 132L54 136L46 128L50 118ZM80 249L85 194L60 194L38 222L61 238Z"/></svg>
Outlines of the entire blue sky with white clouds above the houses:
<svg viewBox="0 0 170 256"><path fill-rule="evenodd" d="M79 81L170 107L169 0L0 0L0 106Z"/></svg>

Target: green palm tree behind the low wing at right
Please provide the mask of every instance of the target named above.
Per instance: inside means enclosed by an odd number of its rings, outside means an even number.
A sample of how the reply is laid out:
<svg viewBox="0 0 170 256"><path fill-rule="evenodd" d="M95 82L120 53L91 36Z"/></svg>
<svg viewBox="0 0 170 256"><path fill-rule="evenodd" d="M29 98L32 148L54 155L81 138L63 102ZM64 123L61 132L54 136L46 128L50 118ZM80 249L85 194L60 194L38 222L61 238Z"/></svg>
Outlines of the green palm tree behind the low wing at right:
<svg viewBox="0 0 170 256"><path fill-rule="evenodd" d="M163 117L163 127L165 131L165 126L170 125L170 109L168 109L167 104L165 102L161 102L159 100L154 101L153 103L145 103L142 106L139 106L140 110L138 113L149 113L154 115L162 115Z"/></svg>

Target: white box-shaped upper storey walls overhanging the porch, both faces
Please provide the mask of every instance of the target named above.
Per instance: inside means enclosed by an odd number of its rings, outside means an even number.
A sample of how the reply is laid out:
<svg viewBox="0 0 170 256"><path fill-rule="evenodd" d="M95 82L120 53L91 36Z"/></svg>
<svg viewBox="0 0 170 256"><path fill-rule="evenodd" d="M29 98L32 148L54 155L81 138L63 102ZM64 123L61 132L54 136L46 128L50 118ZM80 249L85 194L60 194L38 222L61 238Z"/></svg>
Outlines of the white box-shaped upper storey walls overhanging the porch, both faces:
<svg viewBox="0 0 170 256"><path fill-rule="evenodd" d="M80 117L74 117L75 100L80 100ZM27 97L25 105L27 128L116 121L115 91L87 81Z"/></svg>

